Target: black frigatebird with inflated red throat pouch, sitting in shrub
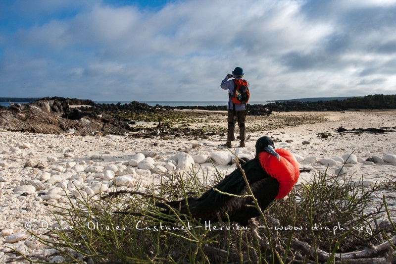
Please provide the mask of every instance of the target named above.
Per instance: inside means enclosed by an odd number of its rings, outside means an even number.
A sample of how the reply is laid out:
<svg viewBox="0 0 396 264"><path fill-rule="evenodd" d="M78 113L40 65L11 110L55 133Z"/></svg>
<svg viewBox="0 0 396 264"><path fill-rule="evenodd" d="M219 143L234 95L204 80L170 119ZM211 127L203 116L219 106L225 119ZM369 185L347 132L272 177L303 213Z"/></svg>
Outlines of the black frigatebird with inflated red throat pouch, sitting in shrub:
<svg viewBox="0 0 396 264"><path fill-rule="evenodd" d="M264 211L275 199L284 198L293 189L299 177L299 166L292 153L284 149L275 150L270 137L260 137L255 149L255 157L243 163L241 168L260 209ZM246 193L246 181L237 167L199 198L189 197L156 206L165 209L162 212L167 214L172 211L169 207L182 214L190 212L201 222L229 219L230 222L247 225L250 218L259 215L259 211L254 207L251 196L243 197Z"/></svg>

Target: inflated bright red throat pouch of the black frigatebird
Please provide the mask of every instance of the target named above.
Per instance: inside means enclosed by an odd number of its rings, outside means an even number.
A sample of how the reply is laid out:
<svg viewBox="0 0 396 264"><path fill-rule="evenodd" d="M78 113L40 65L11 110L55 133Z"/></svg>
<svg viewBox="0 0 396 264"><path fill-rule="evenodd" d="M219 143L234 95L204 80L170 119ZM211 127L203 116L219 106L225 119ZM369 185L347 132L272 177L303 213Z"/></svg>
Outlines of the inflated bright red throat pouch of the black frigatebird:
<svg viewBox="0 0 396 264"><path fill-rule="evenodd" d="M258 159L267 174L279 182L279 192L275 199L282 199L293 189L300 171L297 159L291 152L284 149L277 149L275 152L279 154L280 162L267 152L259 153Z"/></svg>

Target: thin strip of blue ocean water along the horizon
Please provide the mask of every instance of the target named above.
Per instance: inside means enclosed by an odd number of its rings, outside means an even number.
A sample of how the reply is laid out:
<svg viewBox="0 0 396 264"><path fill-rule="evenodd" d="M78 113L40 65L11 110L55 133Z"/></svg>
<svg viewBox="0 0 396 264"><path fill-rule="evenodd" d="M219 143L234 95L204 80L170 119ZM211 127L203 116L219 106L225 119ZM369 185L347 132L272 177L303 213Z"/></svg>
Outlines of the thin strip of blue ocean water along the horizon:
<svg viewBox="0 0 396 264"><path fill-rule="evenodd" d="M124 104L129 104L131 103L130 101L94 101L97 104L118 104L121 103L121 105ZM28 102L13 102L15 104L27 104ZM142 101L139 103L146 103L149 106L226 106L227 101ZM266 105L271 102L249 102L250 105ZM9 106L8 102L0 102L1 106Z"/></svg>

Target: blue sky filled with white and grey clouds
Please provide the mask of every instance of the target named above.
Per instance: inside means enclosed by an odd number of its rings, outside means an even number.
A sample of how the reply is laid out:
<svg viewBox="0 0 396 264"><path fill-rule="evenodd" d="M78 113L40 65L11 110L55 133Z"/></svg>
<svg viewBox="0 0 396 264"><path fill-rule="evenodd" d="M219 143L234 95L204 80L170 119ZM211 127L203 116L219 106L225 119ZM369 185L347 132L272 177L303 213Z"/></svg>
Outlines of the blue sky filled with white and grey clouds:
<svg viewBox="0 0 396 264"><path fill-rule="evenodd" d="M396 0L0 0L0 97L396 94Z"/></svg>

